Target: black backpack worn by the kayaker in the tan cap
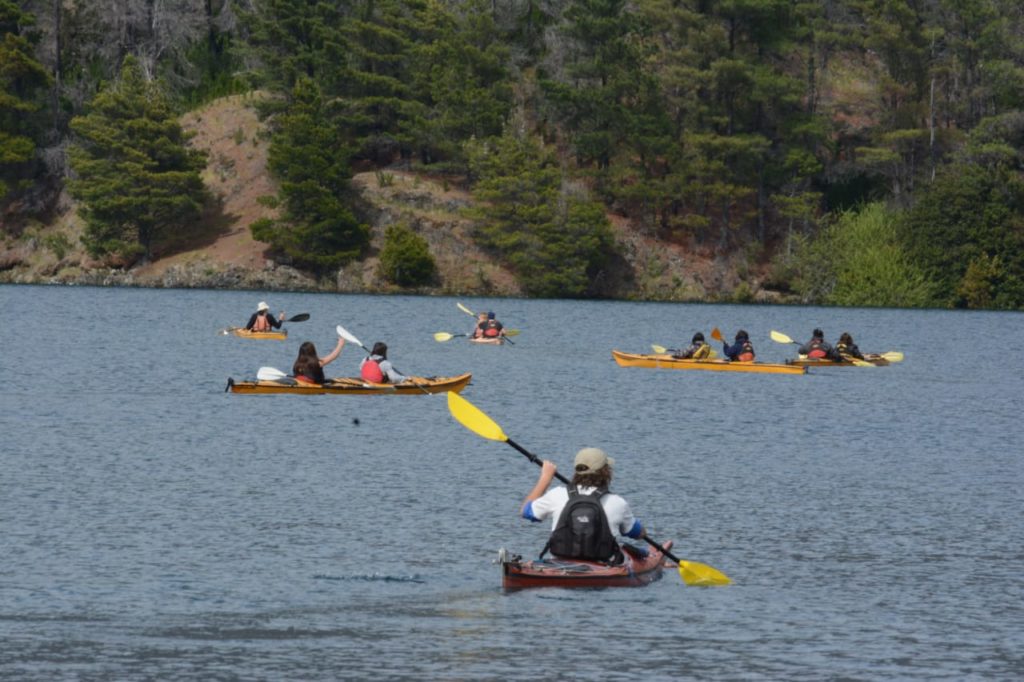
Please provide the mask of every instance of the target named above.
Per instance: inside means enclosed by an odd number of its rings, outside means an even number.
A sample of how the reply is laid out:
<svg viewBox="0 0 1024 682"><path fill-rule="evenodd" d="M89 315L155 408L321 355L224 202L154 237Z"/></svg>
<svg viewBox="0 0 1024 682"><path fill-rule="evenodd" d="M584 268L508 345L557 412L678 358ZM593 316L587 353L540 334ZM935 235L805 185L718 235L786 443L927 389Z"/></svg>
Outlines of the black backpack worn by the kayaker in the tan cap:
<svg viewBox="0 0 1024 682"><path fill-rule="evenodd" d="M611 532L611 526L608 525L604 508L601 507L601 498L608 491L597 488L590 495L582 495L575 485L570 485L568 494L569 501L562 509L541 556L550 550L563 559L621 563L623 553Z"/></svg>

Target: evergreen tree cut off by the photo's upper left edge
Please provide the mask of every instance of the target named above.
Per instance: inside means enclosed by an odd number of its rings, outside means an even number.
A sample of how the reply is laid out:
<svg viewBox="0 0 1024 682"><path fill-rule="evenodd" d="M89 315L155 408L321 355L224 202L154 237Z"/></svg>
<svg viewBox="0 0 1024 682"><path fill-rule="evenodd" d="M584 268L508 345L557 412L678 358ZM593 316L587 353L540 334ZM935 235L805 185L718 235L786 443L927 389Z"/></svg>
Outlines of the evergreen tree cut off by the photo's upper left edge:
<svg viewBox="0 0 1024 682"><path fill-rule="evenodd" d="M0 201L19 182L31 182L29 166L42 128L34 115L50 77L24 33L34 22L10 0L0 0Z"/></svg>

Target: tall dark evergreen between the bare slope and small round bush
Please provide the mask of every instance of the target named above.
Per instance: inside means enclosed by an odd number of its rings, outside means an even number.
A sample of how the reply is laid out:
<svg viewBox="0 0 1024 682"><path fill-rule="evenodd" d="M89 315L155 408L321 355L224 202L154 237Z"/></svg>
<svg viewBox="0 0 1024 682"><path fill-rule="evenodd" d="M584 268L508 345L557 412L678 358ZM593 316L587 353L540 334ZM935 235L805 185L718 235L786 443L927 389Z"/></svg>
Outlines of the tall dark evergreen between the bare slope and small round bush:
<svg viewBox="0 0 1024 682"><path fill-rule="evenodd" d="M357 258L370 230L352 215L349 153L337 126L324 115L319 89L300 78L288 111L276 117L269 168L281 182L281 220L259 220L253 237L300 267L321 273Z"/></svg>

